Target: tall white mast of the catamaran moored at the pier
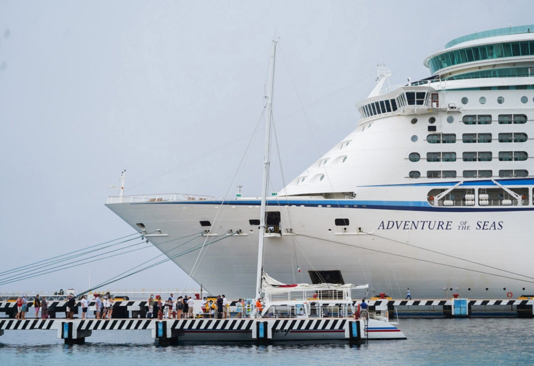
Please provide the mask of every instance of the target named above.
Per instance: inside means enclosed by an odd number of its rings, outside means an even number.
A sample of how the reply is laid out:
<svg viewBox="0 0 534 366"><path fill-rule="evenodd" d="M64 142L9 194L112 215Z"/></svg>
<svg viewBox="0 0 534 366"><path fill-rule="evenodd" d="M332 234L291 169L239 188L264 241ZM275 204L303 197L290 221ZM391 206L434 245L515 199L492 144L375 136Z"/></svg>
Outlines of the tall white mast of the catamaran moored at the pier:
<svg viewBox="0 0 534 366"><path fill-rule="evenodd" d="M269 168L271 152L271 116L272 116L272 92L274 83L274 53L276 52L276 41L272 41L271 58L269 60L269 82L267 84L267 95L265 96L265 144L263 151L263 181L262 181L262 205L260 209L260 235L258 235L258 270L256 278L256 298L262 292L262 272L263 272L263 236L265 234L265 204L267 189L269 187Z"/></svg>

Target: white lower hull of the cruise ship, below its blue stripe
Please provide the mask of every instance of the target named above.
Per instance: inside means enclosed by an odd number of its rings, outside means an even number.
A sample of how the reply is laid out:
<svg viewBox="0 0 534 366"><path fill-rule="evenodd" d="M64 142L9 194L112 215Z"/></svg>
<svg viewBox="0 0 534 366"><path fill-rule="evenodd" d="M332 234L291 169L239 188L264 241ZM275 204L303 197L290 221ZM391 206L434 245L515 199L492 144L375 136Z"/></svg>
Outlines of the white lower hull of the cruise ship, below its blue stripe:
<svg viewBox="0 0 534 366"><path fill-rule="evenodd" d="M532 292L529 278L503 271L534 277L525 228L532 217L530 210L436 213L352 207L357 201L351 201L349 208L343 207L348 201L339 201L341 208L334 207L334 201L321 203L323 207L317 207L317 201L304 202L277 207L282 235L265 240L264 270L281 282L310 282L308 271L339 270L345 283L368 282L373 294L395 298L404 297L407 287L414 298L450 298L454 293L467 298L506 298L509 292L513 297ZM332 207L326 207L328 204ZM172 259L187 273L192 273L206 240L193 279L212 294L237 299L254 296L258 228L249 220L258 217L258 205L259 201L231 201L223 206L220 202L176 201L108 207L136 229L136 223L141 222L147 232L159 229L168 233L168 237L151 238L151 242L169 257L193 250ZM213 229L218 236L200 236L187 244L183 243L191 237L170 241L200 233L203 228L199 222L214 217L219 207L222 220ZM269 211L273 209L269 206ZM336 227L336 217L348 218L350 231ZM422 221L426 222L424 227ZM418 229L412 222L419 222ZM284 228L293 228L297 235L288 235ZM229 230L246 235L227 236Z"/></svg>

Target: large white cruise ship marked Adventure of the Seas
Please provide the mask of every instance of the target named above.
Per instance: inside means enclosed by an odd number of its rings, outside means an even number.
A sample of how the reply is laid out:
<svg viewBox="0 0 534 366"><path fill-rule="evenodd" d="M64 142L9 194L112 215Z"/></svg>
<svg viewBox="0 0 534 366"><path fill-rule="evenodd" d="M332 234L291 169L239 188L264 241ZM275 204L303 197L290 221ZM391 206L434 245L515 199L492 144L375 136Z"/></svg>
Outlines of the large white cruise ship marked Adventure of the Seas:
<svg viewBox="0 0 534 366"><path fill-rule="evenodd" d="M106 206L211 293L284 283L368 283L371 295L534 293L534 25L452 40L429 77L357 103L361 119L267 201L184 194ZM258 178L259 182L259 178Z"/></svg>

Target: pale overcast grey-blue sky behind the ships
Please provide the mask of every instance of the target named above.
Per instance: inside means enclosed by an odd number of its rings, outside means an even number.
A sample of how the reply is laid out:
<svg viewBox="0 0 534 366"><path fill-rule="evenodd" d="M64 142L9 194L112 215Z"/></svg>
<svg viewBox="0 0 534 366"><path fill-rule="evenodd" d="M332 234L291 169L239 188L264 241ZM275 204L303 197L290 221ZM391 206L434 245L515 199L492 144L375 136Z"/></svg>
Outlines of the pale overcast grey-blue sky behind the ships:
<svg viewBox="0 0 534 366"><path fill-rule="evenodd" d="M422 60L446 42L531 24L533 10L531 1L0 0L0 271L134 232L104 206L124 168L125 194L234 197L238 184L259 194L261 134L232 177L262 113L275 35L273 113L288 182L357 126L355 103L374 87L377 63L392 84L427 77ZM272 181L283 185L277 163ZM96 284L158 254L0 292L81 291L89 271ZM168 263L108 287L186 278Z"/></svg>

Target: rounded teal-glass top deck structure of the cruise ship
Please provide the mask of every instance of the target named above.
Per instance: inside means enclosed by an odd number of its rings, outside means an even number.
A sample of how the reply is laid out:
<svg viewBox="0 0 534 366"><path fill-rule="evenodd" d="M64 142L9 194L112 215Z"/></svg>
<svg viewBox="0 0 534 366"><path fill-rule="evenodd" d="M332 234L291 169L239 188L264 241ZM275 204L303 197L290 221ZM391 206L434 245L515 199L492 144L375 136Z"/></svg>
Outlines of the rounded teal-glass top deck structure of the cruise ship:
<svg viewBox="0 0 534 366"><path fill-rule="evenodd" d="M423 64L441 80L534 76L534 25L456 38Z"/></svg>

